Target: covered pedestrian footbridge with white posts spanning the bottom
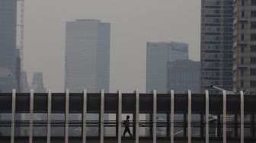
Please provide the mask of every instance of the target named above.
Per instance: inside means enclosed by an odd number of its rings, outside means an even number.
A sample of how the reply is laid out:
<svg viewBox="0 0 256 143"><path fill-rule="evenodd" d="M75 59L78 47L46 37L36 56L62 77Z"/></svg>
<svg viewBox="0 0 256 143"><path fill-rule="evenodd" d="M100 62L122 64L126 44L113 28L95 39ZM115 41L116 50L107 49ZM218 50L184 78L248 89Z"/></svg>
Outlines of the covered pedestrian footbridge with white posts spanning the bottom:
<svg viewBox="0 0 256 143"><path fill-rule="evenodd" d="M54 143L247 143L255 141L255 113L251 108L256 96L240 94L140 94L138 91L122 94L104 93L44 93L0 94L0 142L54 142ZM145 106L146 105L146 106ZM99 118L91 120L91 114ZM114 114L113 120L104 120ZM148 120L140 116L149 115ZM165 115L159 120L157 115ZM74 120L73 116L80 118ZM130 115L133 137L122 138L123 120ZM213 121L212 116L216 116ZM230 122L229 116L235 119ZM16 118L26 116L26 118ZM37 116L40 116L38 119ZM56 119L56 116L61 118ZM178 118L183 117L183 118ZM179 120L178 120L179 119ZM113 135L104 130L114 127ZM157 134L158 128L162 134ZM98 129L96 135L88 134ZM149 129L142 135L140 129ZM229 134L229 129L235 132ZM215 132L212 132L213 129ZM26 130L28 132L16 132ZM53 132L59 130L58 133ZM15 132L14 132L15 131ZM38 134L38 131L42 131ZM76 132L74 132L76 131ZM214 134L213 134L214 133Z"/></svg>

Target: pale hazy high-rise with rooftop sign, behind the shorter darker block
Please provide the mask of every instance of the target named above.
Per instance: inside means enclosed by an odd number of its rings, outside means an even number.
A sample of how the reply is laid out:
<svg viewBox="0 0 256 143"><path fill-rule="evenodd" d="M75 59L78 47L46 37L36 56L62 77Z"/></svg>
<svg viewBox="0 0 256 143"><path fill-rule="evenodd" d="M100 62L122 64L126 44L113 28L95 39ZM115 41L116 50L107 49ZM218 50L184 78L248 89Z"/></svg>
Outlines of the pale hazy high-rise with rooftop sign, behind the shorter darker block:
<svg viewBox="0 0 256 143"><path fill-rule="evenodd" d="M187 43L147 43L146 92L166 93L168 62L188 59Z"/></svg>

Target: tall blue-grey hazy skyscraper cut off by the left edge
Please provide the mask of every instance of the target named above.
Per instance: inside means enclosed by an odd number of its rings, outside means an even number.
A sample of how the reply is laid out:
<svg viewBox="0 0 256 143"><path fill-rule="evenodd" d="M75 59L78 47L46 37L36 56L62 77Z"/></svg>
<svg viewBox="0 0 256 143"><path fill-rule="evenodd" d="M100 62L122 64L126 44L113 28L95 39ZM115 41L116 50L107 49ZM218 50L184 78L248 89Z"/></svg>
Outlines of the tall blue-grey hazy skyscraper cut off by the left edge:
<svg viewBox="0 0 256 143"><path fill-rule="evenodd" d="M17 74L17 55L16 55L16 18L17 1L0 1L0 67L8 68L11 71L14 82L11 88L18 87ZM11 91L10 91L11 92Z"/></svg>

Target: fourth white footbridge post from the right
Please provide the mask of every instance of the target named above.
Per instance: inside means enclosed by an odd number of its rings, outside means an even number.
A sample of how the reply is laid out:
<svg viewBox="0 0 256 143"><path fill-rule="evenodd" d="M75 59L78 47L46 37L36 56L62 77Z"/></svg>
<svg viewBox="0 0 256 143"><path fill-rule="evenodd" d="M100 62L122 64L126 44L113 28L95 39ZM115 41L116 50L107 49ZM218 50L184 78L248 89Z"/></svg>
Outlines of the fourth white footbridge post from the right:
<svg viewBox="0 0 256 143"><path fill-rule="evenodd" d="M187 109L187 143L191 143L191 91L188 93L188 109Z"/></svg>

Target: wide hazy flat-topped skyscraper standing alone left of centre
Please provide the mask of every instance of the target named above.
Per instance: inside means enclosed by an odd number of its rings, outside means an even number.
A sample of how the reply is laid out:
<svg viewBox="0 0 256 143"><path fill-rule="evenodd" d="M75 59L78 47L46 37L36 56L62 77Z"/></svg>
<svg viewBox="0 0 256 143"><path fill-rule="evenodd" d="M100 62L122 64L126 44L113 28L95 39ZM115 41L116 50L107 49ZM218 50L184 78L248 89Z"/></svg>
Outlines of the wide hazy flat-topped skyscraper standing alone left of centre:
<svg viewBox="0 0 256 143"><path fill-rule="evenodd" d="M109 83L110 23L94 19L66 22L65 88L108 92Z"/></svg>

